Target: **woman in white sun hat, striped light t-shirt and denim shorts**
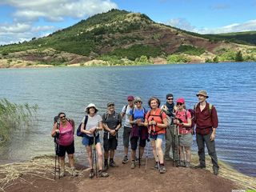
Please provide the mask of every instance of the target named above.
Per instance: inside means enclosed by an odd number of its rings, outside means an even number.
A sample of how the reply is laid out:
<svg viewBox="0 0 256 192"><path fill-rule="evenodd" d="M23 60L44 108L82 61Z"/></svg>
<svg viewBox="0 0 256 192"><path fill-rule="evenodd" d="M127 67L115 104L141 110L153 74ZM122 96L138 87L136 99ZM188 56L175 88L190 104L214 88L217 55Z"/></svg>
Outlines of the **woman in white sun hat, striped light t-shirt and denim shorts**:
<svg viewBox="0 0 256 192"><path fill-rule="evenodd" d="M85 134L82 138L82 144L86 146L86 152L88 155L90 165L89 178L94 178L92 146L95 147L98 154L98 162L95 162L95 165L98 163L98 177L106 178L109 174L102 170L102 146L98 133L98 130L102 130L102 117L97 114L98 109L93 103L86 106L85 112L88 114L88 117L87 122L86 117L82 118L81 132Z"/></svg>

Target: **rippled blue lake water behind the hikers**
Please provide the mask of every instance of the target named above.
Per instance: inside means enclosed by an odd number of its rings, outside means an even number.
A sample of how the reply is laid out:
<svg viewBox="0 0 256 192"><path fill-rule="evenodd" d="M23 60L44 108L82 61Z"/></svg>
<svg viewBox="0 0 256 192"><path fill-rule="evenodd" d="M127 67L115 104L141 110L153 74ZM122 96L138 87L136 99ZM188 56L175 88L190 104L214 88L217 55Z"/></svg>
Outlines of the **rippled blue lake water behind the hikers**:
<svg viewBox="0 0 256 192"><path fill-rule="evenodd" d="M218 63L162 66L122 66L0 70L0 98L10 102L38 104L33 129L15 131L12 141L0 149L0 162L25 161L54 154L50 137L53 117L59 111L81 122L84 108L94 102L99 113L113 101L121 111L129 94L141 96L146 105L154 95L184 97L191 108L198 90L207 90L218 110L216 148L218 158L244 174L256 176L256 63ZM118 156L122 157L122 134ZM87 163L81 138L76 137L78 162ZM196 144L193 146L196 150Z"/></svg>

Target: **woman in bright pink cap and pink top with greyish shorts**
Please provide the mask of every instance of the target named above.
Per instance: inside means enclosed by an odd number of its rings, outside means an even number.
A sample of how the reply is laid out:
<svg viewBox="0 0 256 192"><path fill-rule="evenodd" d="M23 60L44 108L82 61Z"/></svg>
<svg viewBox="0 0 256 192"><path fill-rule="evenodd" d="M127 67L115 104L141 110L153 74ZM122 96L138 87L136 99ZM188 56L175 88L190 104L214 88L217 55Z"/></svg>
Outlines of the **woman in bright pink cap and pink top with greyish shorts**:
<svg viewBox="0 0 256 192"><path fill-rule="evenodd" d="M177 99L176 118L174 119L174 124L178 126L178 131L180 134L179 143L179 154L180 154L180 165L183 167L190 167L191 151L190 147L193 142L193 135L191 127L191 114L185 109L184 98Z"/></svg>

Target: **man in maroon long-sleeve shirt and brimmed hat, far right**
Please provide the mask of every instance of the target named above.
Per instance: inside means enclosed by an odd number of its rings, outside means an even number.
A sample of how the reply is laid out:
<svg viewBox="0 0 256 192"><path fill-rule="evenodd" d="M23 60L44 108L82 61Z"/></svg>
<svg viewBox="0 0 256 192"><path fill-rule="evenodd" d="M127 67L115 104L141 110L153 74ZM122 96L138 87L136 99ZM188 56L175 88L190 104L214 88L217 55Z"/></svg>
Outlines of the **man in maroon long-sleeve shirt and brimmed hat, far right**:
<svg viewBox="0 0 256 192"><path fill-rule="evenodd" d="M214 174L218 175L218 158L215 150L216 129L218 127L218 114L215 106L206 102L209 98L206 90L200 90L197 94L198 104L194 106L194 121L196 124L196 138L198 144L198 156L200 164L196 167L206 168L205 144L213 163Z"/></svg>

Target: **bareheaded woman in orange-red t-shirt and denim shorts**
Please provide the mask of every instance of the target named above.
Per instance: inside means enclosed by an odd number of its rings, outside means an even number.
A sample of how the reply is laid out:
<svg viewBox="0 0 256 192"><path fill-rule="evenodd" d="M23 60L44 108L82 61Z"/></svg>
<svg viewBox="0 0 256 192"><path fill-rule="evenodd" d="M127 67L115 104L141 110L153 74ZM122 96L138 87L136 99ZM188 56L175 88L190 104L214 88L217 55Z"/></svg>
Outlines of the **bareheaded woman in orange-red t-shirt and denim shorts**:
<svg viewBox="0 0 256 192"><path fill-rule="evenodd" d="M154 168L158 169L160 174L166 173L164 166L162 141L166 135L166 127L168 125L166 113L159 108L160 100L158 98L150 98L148 102L150 111L147 112L144 126L148 126L150 133L151 146L155 159Z"/></svg>

